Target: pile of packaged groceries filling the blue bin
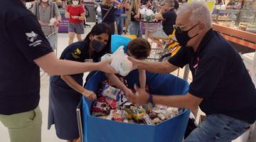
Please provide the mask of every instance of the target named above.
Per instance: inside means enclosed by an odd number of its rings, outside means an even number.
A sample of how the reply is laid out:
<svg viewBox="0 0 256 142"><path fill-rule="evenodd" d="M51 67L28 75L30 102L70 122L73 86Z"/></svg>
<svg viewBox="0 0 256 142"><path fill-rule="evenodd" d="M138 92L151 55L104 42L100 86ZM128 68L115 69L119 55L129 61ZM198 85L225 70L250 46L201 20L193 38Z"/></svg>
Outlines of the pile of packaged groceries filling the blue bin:
<svg viewBox="0 0 256 142"><path fill-rule="evenodd" d="M124 77L119 77L119 79L128 86ZM100 84L100 90L97 93L99 99L92 102L92 116L124 123L155 125L178 114L178 108L153 106L153 104L143 106L132 104L128 102L122 90L110 84L107 81Z"/></svg>

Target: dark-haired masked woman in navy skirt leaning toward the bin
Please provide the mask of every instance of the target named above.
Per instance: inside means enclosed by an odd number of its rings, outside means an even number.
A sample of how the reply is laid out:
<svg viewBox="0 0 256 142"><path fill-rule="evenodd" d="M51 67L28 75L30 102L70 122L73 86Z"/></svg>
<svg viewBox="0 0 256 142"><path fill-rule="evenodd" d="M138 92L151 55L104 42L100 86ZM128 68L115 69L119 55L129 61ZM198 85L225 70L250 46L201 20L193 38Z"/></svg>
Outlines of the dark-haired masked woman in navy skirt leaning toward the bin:
<svg viewBox="0 0 256 142"><path fill-rule="evenodd" d="M110 27L99 23L87 34L85 40L68 45L60 56L62 60L85 62L100 61L105 53L110 53ZM80 98L90 101L96 99L95 92L82 87L83 73L50 77L50 97L48 110L48 129L55 124L58 138L75 141L79 137L75 109Z"/></svg>

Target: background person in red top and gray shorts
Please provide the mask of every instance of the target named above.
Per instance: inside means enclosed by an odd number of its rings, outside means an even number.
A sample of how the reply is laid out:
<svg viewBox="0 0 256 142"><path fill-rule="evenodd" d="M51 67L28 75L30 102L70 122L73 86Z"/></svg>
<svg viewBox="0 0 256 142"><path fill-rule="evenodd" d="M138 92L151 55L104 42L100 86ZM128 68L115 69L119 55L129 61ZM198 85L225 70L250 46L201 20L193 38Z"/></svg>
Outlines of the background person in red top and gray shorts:
<svg viewBox="0 0 256 142"><path fill-rule="evenodd" d="M85 33L83 21L85 20L85 9L80 5L80 1L73 0L72 4L68 6L65 17L69 18L68 23L68 44L73 43L75 34L78 41L81 41L81 34Z"/></svg>

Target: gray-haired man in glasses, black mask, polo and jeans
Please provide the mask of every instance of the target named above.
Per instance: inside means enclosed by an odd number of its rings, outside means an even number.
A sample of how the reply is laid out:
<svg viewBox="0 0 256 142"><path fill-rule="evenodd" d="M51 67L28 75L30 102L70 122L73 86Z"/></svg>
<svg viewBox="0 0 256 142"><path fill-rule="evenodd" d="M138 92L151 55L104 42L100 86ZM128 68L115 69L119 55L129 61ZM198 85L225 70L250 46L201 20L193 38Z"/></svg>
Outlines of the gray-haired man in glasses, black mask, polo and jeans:
<svg viewBox="0 0 256 142"><path fill-rule="evenodd" d="M193 75L186 95L159 96L137 87L132 102L153 102L171 107L197 109L207 115L191 141L232 141L249 129L256 119L256 89L238 52L212 29L205 4L184 4L177 11L176 39L181 50L169 62L144 62L129 58L134 66L150 72L167 73L189 64ZM171 84L170 84L171 85Z"/></svg>

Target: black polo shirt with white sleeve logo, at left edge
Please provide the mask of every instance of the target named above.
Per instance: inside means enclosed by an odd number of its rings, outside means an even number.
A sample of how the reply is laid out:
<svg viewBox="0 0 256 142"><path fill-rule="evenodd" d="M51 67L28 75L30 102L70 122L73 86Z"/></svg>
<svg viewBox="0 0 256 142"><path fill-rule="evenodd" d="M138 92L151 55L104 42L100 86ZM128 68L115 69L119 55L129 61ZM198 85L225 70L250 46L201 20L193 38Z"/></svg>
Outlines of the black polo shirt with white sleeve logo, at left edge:
<svg viewBox="0 0 256 142"><path fill-rule="evenodd" d="M33 60L52 52L36 16L21 0L0 4L0 114L38 106L40 70Z"/></svg>

